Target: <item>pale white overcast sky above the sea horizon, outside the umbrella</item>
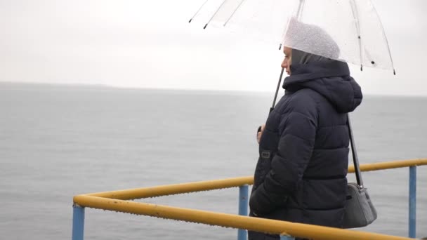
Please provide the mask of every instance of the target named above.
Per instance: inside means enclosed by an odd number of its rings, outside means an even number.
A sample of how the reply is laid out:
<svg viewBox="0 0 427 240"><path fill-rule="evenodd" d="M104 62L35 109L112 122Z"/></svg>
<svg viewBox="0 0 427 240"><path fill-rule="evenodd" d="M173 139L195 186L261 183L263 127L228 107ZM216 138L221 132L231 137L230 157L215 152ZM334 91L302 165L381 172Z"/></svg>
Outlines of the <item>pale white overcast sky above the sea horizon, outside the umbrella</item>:
<svg viewBox="0 0 427 240"><path fill-rule="evenodd" d="M274 91L277 46L189 24L203 2L0 0L0 81ZM373 2L397 75L352 75L365 94L427 95L427 1Z"/></svg>

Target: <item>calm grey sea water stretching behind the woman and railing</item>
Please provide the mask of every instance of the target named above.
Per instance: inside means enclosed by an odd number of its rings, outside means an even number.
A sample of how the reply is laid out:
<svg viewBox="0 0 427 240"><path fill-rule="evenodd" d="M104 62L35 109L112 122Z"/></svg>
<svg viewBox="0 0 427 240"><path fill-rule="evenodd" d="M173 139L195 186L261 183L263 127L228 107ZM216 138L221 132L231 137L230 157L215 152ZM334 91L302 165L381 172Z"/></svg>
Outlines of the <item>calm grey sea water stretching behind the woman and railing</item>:
<svg viewBox="0 0 427 240"><path fill-rule="evenodd" d="M0 84L1 239L71 239L72 197L253 175L268 93ZM361 164L427 158L427 98L366 96L351 114ZM351 163L350 163L351 165ZM427 166L417 236L427 236ZM407 236L408 168L362 173L379 217ZM354 181L354 174L349 174ZM143 201L237 213L238 189ZM86 209L85 239L236 239L236 229Z"/></svg>

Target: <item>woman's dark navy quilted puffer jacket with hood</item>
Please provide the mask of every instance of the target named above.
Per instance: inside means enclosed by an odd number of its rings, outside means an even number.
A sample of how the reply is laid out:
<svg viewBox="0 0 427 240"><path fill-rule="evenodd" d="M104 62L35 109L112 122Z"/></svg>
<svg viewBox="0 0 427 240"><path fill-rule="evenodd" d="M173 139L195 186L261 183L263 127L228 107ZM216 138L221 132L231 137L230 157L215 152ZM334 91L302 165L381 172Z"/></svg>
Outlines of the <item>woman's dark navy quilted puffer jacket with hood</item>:
<svg viewBox="0 0 427 240"><path fill-rule="evenodd" d="M345 62L291 65L291 72L261 136L251 215L341 227L347 113L360 105L362 92Z"/></svg>

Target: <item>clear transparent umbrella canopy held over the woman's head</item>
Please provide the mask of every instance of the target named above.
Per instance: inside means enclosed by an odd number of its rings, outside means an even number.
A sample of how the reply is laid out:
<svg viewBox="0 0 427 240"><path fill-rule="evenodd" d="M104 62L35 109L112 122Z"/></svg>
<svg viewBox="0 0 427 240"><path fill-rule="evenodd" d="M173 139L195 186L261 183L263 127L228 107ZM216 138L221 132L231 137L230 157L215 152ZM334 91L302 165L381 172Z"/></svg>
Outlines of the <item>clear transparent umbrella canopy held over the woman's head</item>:
<svg viewBox="0 0 427 240"><path fill-rule="evenodd" d="M193 17L208 4L204 1ZM280 39L283 46L361 69L394 71L386 34L371 0L221 0L212 6L205 28L211 23L240 25L256 29L261 36L274 31L273 39Z"/></svg>

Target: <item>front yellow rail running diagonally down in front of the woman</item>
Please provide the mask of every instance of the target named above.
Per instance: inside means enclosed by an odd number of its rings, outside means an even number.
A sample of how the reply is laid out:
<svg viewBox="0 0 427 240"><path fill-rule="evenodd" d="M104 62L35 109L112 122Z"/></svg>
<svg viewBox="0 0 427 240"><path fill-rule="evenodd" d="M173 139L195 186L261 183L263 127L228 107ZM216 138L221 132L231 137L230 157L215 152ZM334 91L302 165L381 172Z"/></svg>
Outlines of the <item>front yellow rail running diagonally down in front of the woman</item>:
<svg viewBox="0 0 427 240"><path fill-rule="evenodd" d="M358 232L347 229L306 225L302 223L284 222L265 218L252 218L227 213L214 213L211 211L176 208L157 204L144 204L118 199L105 199L98 196L79 195L74 197L74 201L80 206L89 208L99 208L103 210L134 213L138 215L149 215L157 218L183 220L188 222L199 222L207 225L217 225L221 227L248 229L256 232L268 232L270 234L289 234L291 236L316 240L409 240L409 238L402 236Z"/></svg>

